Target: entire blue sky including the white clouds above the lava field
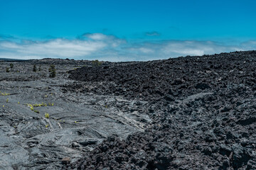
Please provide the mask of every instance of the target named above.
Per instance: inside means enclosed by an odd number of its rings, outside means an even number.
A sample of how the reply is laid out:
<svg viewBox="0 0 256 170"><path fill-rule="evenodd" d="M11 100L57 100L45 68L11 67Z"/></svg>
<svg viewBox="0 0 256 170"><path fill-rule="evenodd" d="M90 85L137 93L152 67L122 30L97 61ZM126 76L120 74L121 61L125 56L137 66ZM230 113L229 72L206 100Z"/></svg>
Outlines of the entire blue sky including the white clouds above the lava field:
<svg viewBox="0 0 256 170"><path fill-rule="evenodd" d="M0 0L0 57L157 60L256 50L256 1Z"/></svg>

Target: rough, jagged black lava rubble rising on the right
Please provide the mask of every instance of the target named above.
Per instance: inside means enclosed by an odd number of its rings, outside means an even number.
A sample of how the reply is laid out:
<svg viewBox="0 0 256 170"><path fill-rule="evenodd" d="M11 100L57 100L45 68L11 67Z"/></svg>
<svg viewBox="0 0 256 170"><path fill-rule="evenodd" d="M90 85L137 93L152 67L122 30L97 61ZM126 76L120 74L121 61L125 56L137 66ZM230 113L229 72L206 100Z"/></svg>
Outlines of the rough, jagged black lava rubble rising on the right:
<svg viewBox="0 0 256 170"><path fill-rule="evenodd" d="M63 169L256 169L256 51L69 73L77 81L63 91L145 101L118 107L151 121L124 140L107 137Z"/></svg>

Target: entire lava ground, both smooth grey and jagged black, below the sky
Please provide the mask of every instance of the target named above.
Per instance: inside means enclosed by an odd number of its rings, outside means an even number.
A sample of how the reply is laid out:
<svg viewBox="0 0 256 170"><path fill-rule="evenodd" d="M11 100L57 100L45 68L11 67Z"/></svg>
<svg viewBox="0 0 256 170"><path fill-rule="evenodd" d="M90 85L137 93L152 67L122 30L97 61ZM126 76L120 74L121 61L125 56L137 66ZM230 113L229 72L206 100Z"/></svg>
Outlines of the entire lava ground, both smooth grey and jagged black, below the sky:
<svg viewBox="0 0 256 170"><path fill-rule="evenodd" d="M256 51L13 63L0 63L0 169L256 169Z"/></svg>

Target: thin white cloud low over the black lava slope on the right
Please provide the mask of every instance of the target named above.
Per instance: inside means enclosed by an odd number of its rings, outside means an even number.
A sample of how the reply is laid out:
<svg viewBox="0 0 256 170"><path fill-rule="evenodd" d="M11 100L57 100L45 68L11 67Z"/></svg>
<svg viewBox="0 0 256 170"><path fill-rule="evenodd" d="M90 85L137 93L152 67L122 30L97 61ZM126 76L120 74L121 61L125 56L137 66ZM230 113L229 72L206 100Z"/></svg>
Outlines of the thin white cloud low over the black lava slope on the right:
<svg viewBox="0 0 256 170"><path fill-rule="evenodd" d="M144 52L142 49L149 49L150 52ZM137 54L141 60L158 60L186 55L211 55L220 52L255 49L256 45L253 42L246 42L246 45L221 45L213 41L165 40L133 45L129 50L131 53Z"/></svg>

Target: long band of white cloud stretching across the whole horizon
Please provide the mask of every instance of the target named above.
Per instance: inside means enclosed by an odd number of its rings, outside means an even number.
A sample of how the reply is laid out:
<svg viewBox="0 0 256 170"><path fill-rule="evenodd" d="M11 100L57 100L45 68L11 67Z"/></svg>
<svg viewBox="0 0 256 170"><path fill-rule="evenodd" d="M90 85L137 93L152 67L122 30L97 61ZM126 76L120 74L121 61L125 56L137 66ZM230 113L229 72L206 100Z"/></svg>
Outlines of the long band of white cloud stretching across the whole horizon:
<svg viewBox="0 0 256 170"><path fill-rule="evenodd" d="M213 41L154 40L127 42L114 35L86 33L78 39L55 38L48 41L0 40L0 57L16 59L41 59L46 57L83 60L159 60L186 55L205 55L240 50L255 50L256 41L240 45L223 45Z"/></svg>

